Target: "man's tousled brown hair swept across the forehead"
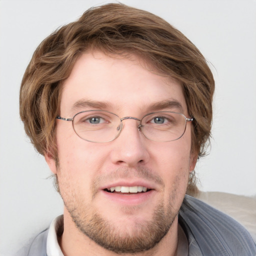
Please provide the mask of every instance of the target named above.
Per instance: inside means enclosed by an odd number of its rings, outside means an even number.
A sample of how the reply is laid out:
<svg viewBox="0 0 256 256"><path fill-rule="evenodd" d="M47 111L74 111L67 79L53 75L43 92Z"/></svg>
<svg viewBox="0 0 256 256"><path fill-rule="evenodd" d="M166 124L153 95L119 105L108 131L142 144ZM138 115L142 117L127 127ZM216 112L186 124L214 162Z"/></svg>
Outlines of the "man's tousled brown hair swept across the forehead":
<svg viewBox="0 0 256 256"><path fill-rule="evenodd" d="M89 49L141 56L154 68L176 78L193 116L191 150L205 153L212 121L214 79L200 51L162 18L120 3L85 11L60 27L35 50L20 88L20 116L36 150L54 156L55 117L61 85L76 59Z"/></svg>

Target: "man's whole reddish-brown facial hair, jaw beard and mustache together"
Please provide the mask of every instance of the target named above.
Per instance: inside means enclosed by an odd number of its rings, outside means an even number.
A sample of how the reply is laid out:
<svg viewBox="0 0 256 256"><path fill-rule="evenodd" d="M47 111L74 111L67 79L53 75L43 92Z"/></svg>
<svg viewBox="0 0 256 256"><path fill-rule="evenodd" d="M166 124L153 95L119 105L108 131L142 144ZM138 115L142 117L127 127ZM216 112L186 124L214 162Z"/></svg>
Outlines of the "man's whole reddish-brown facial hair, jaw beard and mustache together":
<svg viewBox="0 0 256 256"><path fill-rule="evenodd" d="M136 171L119 168L114 173L111 173L111 177L127 178L129 175L146 177L148 179L153 178L157 183L163 184L158 176L153 176L145 168L138 168ZM96 189L94 188L97 187L97 182L101 180L102 177L99 177L93 182L93 198L96 194ZM111 214L111 212L103 212L102 214L96 211L95 208L92 208L91 204L84 202L80 196L77 196L77 191L73 189L74 186L71 186L67 182L68 180L61 181L59 191L64 205L78 230L101 247L115 253L135 253L153 248L166 235L178 213L178 209L172 207L173 200L176 197L176 190L174 189L169 195L168 203L165 206L163 198L158 201L150 219L143 221L134 219L132 227L125 229L125 221L123 221L123 226L120 227L113 221L104 218L103 214ZM72 189L69 189L68 192L63 191L62 193L61 188L63 186L72 187ZM139 211L136 206L131 208L123 207L121 210L123 212L127 211L126 213L129 214L136 210Z"/></svg>

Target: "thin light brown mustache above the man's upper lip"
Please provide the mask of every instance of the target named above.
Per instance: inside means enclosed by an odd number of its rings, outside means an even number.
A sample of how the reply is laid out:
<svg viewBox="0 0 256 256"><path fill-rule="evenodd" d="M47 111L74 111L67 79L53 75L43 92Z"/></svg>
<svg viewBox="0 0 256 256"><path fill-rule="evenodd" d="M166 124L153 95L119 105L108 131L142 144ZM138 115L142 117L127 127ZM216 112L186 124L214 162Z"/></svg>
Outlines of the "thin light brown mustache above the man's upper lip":
<svg viewBox="0 0 256 256"><path fill-rule="evenodd" d="M113 171L110 171L105 174L101 174L92 182L92 190L96 190L100 184L106 183L118 178L143 178L144 180L153 181L161 186L164 186L164 182L162 178L155 174L151 169L139 166L136 168L129 168L129 167L119 167Z"/></svg>

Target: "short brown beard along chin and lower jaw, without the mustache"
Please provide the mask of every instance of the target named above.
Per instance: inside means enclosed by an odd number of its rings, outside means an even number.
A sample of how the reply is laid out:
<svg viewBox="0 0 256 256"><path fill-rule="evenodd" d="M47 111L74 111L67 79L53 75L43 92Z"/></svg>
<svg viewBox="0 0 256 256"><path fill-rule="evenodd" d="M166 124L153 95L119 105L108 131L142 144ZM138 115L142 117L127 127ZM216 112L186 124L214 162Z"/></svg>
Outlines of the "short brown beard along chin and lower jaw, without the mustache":
<svg viewBox="0 0 256 256"><path fill-rule="evenodd" d="M70 210L69 213L83 234L101 247L116 253L135 253L151 249L167 233L175 217L166 216L160 204L154 210L151 220L134 222L131 233L118 230L118 227L105 220L99 213L93 213L91 216L81 216L77 214L77 210Z"/></svg>

